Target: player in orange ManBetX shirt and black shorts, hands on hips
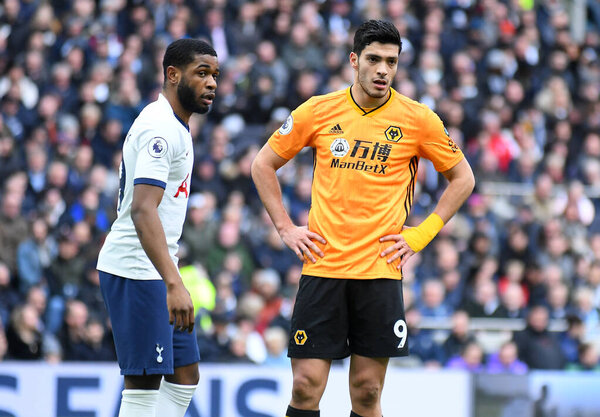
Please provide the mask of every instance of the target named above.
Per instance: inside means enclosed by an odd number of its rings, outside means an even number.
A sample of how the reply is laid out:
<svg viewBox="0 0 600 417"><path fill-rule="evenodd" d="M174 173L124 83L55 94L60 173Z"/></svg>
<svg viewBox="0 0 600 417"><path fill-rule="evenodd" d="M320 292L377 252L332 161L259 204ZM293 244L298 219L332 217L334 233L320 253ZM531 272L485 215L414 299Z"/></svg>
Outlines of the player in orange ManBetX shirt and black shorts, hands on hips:
<svg viewBox="0 0 600 417"><path fill-rule="evenodd" d="M281 238L305 261L288 349L294 379L287 417L319 416L331 361L348 356L350 416L381 417L388 360L408 354L401 267L474 187L439 117L391 88L401 48L392 23L363 23L350 54L353 85L300 105L252 165ZM308 227L290 219L276 176L304 147L315 158ZM448 185L421 224L403 229L421 157Z"/></svg>

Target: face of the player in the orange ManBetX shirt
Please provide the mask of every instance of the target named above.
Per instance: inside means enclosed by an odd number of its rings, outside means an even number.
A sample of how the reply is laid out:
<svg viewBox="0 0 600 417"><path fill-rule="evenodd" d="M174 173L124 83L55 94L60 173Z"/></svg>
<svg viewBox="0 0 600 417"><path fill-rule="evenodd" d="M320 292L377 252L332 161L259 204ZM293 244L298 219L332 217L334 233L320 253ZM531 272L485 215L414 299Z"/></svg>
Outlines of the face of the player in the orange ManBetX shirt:
<svg viewBox="0 0 600 417"><path fill-rule="evenodd" d="M350 54L355 72L355 84L364 95L378 100L386 98L398 70L398 45L373 42L365 47L360 56Z"/></svg>

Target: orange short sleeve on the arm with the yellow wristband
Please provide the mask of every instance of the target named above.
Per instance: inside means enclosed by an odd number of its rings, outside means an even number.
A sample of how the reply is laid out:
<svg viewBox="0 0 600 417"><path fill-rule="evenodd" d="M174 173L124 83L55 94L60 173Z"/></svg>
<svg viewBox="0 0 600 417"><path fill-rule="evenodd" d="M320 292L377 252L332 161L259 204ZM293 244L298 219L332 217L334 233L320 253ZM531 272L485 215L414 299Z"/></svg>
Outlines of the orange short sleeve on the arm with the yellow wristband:
<svg viewBox="0 0 600 417"><path fill-rule="evenodd" d="M429 108L423 113L422 126L424 137L419 143L419 155L429 159L436 171L447 171L464 158L438 115Z"/></svg>

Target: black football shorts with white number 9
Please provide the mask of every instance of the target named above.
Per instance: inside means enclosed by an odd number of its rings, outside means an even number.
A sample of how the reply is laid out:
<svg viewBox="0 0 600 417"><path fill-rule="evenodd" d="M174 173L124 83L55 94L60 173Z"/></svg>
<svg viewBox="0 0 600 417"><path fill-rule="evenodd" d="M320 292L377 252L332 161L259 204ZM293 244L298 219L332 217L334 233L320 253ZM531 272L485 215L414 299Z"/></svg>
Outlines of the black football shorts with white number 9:
<svg viewBox="0 0 600 417"><path fill-rule="evenodd" d="M408 355L402 281L303 275L292 315L291 358Z"/></svg>

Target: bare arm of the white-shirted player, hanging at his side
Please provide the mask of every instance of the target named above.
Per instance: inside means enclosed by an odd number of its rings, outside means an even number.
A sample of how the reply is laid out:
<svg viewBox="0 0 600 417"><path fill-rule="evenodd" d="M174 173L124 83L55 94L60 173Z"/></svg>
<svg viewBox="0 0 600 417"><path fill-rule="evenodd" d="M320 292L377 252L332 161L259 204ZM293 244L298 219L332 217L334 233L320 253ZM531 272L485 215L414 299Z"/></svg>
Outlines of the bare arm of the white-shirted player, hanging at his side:
<svg viewBox="0 0 600 417"><path fill-rule="evenodd" d="M190 294L181 281L181 276L169 255L167 239L158 216L158 205L164 190L147 184L138 184L133 189L131 219L148 258L162 277L167 287L169 321L176 329L194 329L194 305Z"/></svg>

